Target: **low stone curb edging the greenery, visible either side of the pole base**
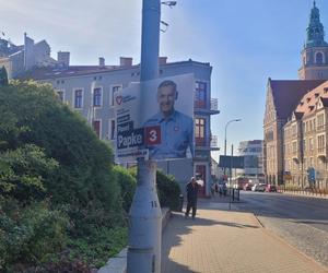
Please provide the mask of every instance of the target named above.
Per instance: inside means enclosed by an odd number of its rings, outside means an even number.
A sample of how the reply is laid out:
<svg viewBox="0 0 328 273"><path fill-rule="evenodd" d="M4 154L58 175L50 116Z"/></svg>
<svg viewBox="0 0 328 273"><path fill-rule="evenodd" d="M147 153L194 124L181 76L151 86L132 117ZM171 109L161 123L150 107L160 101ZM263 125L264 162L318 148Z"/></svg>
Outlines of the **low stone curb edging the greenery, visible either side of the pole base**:
<svg viewBox="0 0 328 273"><path fill-rule="evenodd" d="M169 221L171 214L168 207L162 209L162 233ZM125 248L116 257L110 258L97 273L127 273L127 257L128 248Z"/></svg>

